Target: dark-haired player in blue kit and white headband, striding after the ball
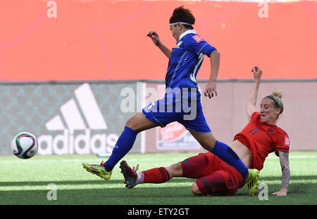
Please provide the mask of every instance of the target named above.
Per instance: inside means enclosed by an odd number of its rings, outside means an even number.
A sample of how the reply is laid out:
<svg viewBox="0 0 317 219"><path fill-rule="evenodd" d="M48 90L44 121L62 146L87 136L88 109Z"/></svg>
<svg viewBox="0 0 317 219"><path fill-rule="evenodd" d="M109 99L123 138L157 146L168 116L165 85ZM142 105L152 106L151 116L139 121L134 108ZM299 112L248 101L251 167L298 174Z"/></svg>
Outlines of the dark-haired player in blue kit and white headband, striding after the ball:
<svg viewBox="0 0 317 219"><path fill-rule="evenodd" d="M228 145L216 140L206 123L196 76L204 55L207 55L211 61L211 74L204 95L209 98L217 95L216 79L220 53L196 34L192 27L194 22L195 18L188 9L182 6L175 8L170 17L170 30L177 41L172 51L161 43L159 34L154 31L147 34L169 59L164 98L144 107L142 113L138 112L129 119L113 148L111 157L105 163L101 162L100 165L83 163L82 166L87 171L104 180L109 180L113 167L132 148L137 133L156 126L164 127L173 121L178 121L189 130L205 150L216 154L227 164L235 167L247 184L256 187L259 172L255 169L248 170ZM251 189L254 190L254 187Z"/></svg>

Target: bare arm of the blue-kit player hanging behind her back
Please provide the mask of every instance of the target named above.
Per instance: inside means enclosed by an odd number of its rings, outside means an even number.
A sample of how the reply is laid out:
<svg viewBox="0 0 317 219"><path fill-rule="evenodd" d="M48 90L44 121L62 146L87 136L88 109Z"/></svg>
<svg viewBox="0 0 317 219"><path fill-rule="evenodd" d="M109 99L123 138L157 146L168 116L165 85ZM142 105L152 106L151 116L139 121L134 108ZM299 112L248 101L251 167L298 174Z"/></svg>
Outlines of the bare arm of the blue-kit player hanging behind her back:
<svg viewBox="0 0 317 219"><path fill-rule="evenodd" d="M210 54L210 62L211 62L211 74L209 78L209 82L206 85L204 95L209 98L213 97L213 93L217 94L216 90L216 79L218 77L219 65L220 65L220 53L218 51L212 51Z"/></svg>

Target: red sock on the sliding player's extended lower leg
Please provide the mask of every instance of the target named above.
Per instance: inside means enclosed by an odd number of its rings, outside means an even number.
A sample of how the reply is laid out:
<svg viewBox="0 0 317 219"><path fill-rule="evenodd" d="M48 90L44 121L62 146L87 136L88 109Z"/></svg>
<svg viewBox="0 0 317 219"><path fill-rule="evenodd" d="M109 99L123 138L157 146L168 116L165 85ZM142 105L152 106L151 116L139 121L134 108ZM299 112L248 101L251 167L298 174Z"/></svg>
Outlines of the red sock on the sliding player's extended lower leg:
<svg viewBox="0 0 317 219"><path fill-rule="evenodd" d="M147 171L142 171L144 175L143 183L165 183L170 180L170 175L166 168L151 168Z"/></svg>

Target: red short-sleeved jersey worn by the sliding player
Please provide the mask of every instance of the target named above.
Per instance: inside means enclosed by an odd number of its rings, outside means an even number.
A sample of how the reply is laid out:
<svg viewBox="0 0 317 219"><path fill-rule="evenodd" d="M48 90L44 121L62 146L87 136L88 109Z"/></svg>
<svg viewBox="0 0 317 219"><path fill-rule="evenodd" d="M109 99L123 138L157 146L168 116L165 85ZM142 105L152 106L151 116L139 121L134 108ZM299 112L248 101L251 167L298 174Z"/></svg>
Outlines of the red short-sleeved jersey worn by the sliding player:
<svg viewBox="0 0 317 219"><path fill-rule="evenodd" d="M234 140L239 140L251 151L250 168L259 171L271 152L289 152L290 138L287 133L278 126L261 123L261 114L254 112L249 124L240 133L235 135Z"/></svg>

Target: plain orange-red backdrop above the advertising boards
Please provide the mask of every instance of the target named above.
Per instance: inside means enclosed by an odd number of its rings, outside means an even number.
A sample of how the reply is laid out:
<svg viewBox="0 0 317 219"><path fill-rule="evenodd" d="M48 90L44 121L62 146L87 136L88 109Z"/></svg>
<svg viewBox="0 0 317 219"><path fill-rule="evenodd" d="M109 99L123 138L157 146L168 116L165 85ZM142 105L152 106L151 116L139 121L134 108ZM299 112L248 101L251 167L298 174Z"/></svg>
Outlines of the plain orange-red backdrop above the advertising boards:
<svg viewBox="0 0 317 219"><path fill-rule="evenodd" d="M259 65L266 79L316 79L317 1L259 3L215 1L56 0L0 1L0 80L164 79L168 59L147 37L159 33L169 48L168 20L184 5L194 29L220 52L219 79L250 78ZM210 62L197 76L208 79Z"/></svg>

